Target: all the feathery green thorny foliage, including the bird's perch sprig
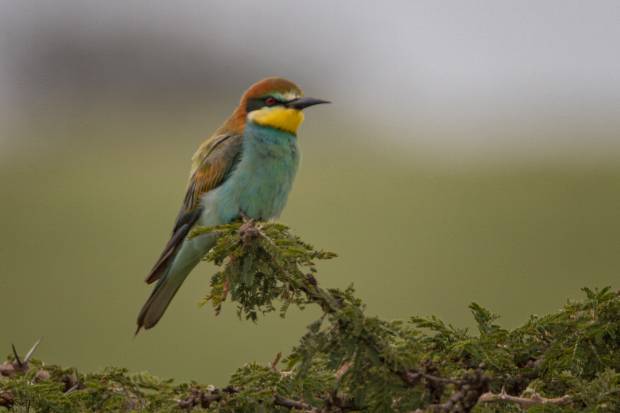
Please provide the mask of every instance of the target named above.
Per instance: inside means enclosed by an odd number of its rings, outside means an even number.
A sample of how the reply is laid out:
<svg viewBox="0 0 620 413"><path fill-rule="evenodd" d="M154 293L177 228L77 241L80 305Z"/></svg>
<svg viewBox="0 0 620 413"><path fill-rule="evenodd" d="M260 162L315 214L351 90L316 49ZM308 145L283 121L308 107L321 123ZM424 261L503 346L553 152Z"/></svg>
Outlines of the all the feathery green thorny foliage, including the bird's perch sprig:
<svg viewBox="0 0 620 413"><path fill-rule="evenodd" d="M218 233L205 257L220 267L205 298L230 299L240 317L315 304L322 316L291 353L250 363L225 388L175 385L109 369L79 374L32 361L0 370L0 406L36 412L618 412L620 293L584 289L581 301L507 330L471 304L477 332L435 317L386 321L365 314L352 287L325 290L317 251L277 223L199 228ZM27 361L26 361L27 363ZM43 372L43 373L42 373ZM2 408L0 407L0 410ZM20 410L21 409L21 410Z"/></svg>

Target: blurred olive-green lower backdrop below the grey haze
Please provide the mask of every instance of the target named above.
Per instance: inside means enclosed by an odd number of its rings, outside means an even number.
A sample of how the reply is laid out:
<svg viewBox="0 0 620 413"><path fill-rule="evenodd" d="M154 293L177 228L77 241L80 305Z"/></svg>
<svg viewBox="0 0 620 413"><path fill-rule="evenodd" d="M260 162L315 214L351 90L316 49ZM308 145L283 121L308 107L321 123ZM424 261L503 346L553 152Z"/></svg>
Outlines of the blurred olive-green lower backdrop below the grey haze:
<svg viewBox="0 0 620 413"><path fill-rule="evenodd" d="M369 129L342 128L339 110L308 111L282 217L340 255L320 266L322 285L354 283L370 314L459 326L471 325L471 301L514 326L581 286L619 286L620 169L432 164ZM189 157L216 121L159 113L40 125L15 132L0 167L0 348L25 351L43 337L48 362L222 384L245 362L286 353L317 315L253 324L229 305L215 317L197 306L213 273L202 264L157 328L134 339L143 278L167 241Z"/></svg>

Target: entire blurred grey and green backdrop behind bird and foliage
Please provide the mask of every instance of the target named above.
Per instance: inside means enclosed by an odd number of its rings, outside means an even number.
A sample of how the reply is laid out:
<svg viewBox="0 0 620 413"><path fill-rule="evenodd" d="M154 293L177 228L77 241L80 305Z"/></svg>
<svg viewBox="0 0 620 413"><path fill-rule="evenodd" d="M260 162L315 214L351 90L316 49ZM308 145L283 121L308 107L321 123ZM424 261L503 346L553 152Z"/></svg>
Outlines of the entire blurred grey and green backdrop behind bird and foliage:
<svg viewBox="0 0 620 413"><path fill-rule="evenodd" d="M313 310L197 303L133 338L189 160L244 89L309 110L282 221L370 314L505 326L620 287L620 3L0 1L0 350L224 384Z"/></svg>

